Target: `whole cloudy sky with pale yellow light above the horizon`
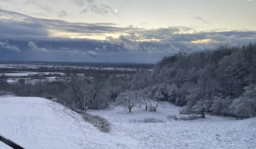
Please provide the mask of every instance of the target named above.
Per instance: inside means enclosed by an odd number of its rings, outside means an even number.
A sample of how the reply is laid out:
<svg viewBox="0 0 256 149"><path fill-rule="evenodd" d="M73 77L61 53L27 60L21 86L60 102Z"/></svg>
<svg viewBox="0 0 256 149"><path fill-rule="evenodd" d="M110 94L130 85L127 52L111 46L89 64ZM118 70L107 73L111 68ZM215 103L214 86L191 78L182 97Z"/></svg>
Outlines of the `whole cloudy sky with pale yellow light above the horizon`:
<svg viewBox="0 0 256 149"><path fill-rule="evenodd" d="M0 60L155 63L256 42L256 0L0 0Z"/></svg>

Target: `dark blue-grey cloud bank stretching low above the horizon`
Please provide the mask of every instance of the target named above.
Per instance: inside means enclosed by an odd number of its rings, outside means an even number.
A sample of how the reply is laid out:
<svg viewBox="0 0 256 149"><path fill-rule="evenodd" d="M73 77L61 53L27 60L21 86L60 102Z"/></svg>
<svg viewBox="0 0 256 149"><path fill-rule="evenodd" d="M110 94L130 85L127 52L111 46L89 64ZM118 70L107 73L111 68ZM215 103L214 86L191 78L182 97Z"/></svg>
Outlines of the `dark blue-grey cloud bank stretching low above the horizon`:
<svg viewBox="0 0 256 149"><path fill-rule="evenodd" d="M59 15L65 17L66 13ZM50 38L49 31L106 38ZM255 31L193 31L194 28L185 26L144 29L132 25L117 27L113 23L70 23L0 9L0 60L154 63L179 49L192 52L214 49L220 44L256 42ZM120 35L113 38L105 34Z"/></svg>

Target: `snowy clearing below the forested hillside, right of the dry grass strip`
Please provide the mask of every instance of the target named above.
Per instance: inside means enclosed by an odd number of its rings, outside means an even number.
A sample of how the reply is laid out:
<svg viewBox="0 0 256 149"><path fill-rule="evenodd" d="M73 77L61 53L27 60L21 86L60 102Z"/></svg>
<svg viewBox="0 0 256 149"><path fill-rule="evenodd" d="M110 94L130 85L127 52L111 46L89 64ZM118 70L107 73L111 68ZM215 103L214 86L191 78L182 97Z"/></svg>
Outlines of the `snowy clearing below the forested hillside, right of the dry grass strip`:
<svg viewBox="0 0 256 149"><path fill-rule="evenodd" d="M112 133L138 140L140 149L256 149L256 118L235 120L206 115L204 119L174 121L167 115L178 115L180 107L167 104L156 112L134 107L129 113L123 107L90 110L112 123ZM165 123L129 123L129 119L162 118Z"/></svg>

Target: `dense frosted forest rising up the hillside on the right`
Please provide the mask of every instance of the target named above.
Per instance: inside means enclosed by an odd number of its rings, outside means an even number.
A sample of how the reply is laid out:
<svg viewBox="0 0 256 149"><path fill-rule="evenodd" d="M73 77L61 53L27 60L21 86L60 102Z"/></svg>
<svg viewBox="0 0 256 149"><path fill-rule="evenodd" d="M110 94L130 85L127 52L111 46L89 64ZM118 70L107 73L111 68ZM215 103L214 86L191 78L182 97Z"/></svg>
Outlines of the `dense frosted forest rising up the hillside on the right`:
<svg viewBox="0 0 256 149"><path fill-rule="evenodd" d="M134 75L132 88L156 87L184 114L256 116L256 44L220 45L215 50L180 50Z"/></svg>

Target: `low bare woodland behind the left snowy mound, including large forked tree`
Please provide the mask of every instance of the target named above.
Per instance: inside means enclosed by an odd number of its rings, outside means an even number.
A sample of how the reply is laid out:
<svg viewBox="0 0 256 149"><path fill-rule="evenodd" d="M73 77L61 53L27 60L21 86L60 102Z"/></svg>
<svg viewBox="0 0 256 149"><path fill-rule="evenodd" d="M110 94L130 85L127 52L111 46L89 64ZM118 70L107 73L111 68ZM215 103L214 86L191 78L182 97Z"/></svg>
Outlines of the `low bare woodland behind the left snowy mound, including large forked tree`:
<svg viewBox="0 0 256 149"><path fill-rule="evenodd" d="M36 96L47 99L57 98L57 102L81 110L102 109L108 102L115 101L118 94L130 88L130 75L110 76L102 75L100 70L87 69L81 73L80 69L65 68L65 73L59 79L16 79L7 83L8 77L0 74L0 91L10 92L17 96ZM45 76L44 73L35 74Z"/></svg>

